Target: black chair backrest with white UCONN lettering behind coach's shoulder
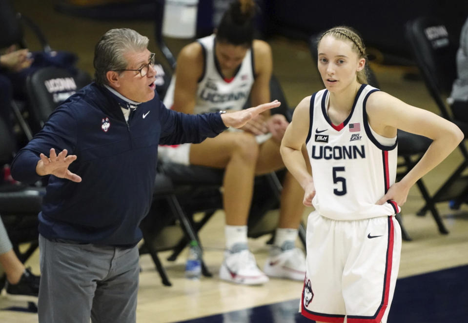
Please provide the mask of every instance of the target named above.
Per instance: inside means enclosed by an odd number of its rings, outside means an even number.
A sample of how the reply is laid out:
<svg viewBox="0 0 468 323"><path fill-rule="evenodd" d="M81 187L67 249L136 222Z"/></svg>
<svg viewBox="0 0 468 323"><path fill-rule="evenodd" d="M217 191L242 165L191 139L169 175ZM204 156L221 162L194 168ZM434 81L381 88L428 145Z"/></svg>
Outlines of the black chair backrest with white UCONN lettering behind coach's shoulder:
<svg viewBox="0 0 468 323"><path fill-rule="evenodd" d="M55 66L41 68L29 75L26 90L33 130L40 130L55 108L89 81L87 75L72 75L66 69Z"/></svg>

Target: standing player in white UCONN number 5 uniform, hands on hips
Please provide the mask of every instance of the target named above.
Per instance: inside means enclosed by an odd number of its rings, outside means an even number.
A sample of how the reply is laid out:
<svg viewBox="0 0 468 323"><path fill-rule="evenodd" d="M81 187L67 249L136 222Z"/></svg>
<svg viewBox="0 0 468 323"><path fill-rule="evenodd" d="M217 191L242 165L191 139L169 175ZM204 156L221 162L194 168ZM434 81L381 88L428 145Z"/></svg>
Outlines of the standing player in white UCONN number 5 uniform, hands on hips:
<svg viewBox="0 0 468 323"><path fill-rule="evenodd" d="M365 62L353 30L326 31L318 43L326 89L299 103L281 145L286 167L305 189L304 204L315 207L301 312L317 322L387 322L401 251L394 215L409 188L463 139L453 123L366 85ZM400 182L397 129L433 140Z"/></svg>

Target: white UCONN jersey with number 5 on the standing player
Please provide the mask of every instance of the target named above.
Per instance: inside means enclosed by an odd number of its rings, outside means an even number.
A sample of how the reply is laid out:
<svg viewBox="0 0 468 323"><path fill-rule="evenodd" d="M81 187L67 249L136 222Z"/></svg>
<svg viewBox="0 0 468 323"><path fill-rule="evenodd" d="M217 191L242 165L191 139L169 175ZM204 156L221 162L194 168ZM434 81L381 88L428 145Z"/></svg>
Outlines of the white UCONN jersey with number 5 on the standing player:
<svg viewBox="0 0 468 323"><path fill-rule="evenodd" d="M397 139L380 136L369 126L366 101L374 91L363 84L339 126L328 118L329 92L311 97L306 147L316 190L312 204L327 218L360 220L400 211L393 201L375 204L395 182Z"/></svg>

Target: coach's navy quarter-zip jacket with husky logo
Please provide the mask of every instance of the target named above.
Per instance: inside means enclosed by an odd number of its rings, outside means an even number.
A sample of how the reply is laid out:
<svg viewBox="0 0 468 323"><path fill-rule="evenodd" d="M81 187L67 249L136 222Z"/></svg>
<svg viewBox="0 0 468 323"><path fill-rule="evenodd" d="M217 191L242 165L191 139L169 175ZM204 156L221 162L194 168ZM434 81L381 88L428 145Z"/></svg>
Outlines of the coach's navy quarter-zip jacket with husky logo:
<svg viewBox="0 0 468 323"><path fill-rule="evenodd" d="M12 163L20 182L36 182L39 154L63 149L77 155L69 169L79 183L49 177L39 232L48 239L130 246L140 241L139 224L149 211L159 144L198 143L226 127L217 113L187 115L155 98L125 121L117 98L91 83L50 116L40 133Z"/></svg>

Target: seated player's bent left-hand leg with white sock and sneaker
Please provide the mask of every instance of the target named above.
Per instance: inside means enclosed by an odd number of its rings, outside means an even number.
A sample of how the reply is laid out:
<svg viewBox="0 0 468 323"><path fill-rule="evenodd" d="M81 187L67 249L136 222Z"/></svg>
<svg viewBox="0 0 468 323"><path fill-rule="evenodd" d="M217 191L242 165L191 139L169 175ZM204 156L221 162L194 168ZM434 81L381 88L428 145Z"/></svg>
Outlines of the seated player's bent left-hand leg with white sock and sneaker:
<svg viewBox="0 0 468 323"><path fill-rule="evenodd" d="M216 138L190 146L191 164L225 169L223 205L226 251L220 278L233 283L256 285L268 281L247 244L247 217L252 202L258 150L255 137L243 132L224 132Z"/></svg>

